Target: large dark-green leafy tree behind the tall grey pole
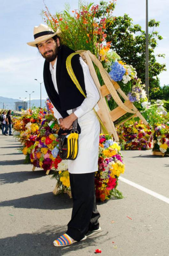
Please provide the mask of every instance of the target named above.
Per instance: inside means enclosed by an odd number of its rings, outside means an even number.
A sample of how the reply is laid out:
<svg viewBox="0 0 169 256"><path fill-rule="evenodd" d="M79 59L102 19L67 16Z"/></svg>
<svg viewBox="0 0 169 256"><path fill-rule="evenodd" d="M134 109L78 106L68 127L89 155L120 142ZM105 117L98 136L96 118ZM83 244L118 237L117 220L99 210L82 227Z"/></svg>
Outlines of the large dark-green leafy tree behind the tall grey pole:
<svg viewBox="0 0 169 256"><path fill-rule="evenodd" d="M159 26L159 22L149 21L149 28L152 28L149 34L149 93L150 99L154 95L154 87L159 88L158 75L166 70L165 64L160 64L156 60L154 49L157 47L157 41L163 37L158 31L154 31ZM111 48L121 56L121 59L127 64L136 68L138 77L145 83L145 31L140 25L134 25L132 19L127 15L109 19L106 24L107 42L111 41ZM158 57L165 57L164 54L158 54ZM158 89L155 91L158 91Z"/></svg>

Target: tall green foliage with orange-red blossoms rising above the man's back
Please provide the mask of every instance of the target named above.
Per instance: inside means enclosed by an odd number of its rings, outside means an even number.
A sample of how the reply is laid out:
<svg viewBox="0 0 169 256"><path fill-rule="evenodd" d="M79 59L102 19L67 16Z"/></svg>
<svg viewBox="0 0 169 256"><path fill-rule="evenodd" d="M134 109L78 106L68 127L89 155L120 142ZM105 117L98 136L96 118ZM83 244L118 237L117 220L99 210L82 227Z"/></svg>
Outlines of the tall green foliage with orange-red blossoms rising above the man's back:
<svg viewBox="0 0 169 256"><path fill-rule="evenodd" d="M62 43L74 51L90 50L96 56L105 41L105 19L111 17L115 8L114 0L109 3L101 1L100 5L93 3L83 4L79 1L78 10L70 11L70 5L66 4L65 10L51 14L45 5L46 11L42 16L49 27L54 31L59 28L62 31Z"/></svg>

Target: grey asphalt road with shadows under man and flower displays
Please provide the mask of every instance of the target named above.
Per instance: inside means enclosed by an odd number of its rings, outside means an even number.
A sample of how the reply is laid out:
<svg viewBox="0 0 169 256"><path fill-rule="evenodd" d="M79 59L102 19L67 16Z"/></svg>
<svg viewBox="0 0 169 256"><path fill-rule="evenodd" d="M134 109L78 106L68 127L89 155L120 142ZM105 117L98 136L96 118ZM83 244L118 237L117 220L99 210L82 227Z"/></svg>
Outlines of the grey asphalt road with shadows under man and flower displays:
<svg viewBox="0 0 169 256"><path fill-rule="evenodd" d="M102 231L69 247L56 248L66 231L72 200L54 196L55 180L23 164L12 136L0 135L0 255L1 256L168 256L169 204L119 180L124 198L99 204ZM169 198L169 157L151 151L122 151L122 175Z"/></svg>

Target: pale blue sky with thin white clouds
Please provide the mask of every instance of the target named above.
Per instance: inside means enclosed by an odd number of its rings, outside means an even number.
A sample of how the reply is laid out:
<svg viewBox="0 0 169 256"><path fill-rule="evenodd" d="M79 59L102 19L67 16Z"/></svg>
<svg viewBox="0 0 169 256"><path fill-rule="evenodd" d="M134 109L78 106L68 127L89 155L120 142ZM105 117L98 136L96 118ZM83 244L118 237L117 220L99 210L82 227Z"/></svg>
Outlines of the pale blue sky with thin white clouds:
<svg viewBox="0 0 169 256"><path fill-rule="evenodd" d="M97 0L90 2L99 4ZM70 10L78 8L78 0L45 0L52 14L64 10L66 3L70 4ZM134 24L140 24L145 30L146 0L117 0L116 3L114 16L127 13L133 19ZM43 82L44 59L37 48L28 46L26 42L34 41L33 27L44 23L40 15L44 9L43 0L1 0L0 96L2 97L15 99L27 97L26 100L28 100L28 93L31 93L31 100L40 99L40 83L34 79ZM157 58L160 63L166 63L167 68L167 71L159 76L161 86L169 84L168 11L168 0L149 0L149 19L160 21L157 30L164 38L158 42L155 52L156 54L165 53L165 59ZM42 99L46 97L42 83Z"/></svg>

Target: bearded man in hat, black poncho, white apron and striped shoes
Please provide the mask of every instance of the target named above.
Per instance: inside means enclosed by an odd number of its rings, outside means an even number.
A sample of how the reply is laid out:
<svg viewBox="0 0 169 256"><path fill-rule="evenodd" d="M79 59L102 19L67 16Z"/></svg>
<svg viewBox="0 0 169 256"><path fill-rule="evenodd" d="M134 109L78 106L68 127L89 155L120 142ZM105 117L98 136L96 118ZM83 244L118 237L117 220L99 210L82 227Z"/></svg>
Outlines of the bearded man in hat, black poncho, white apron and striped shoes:
<svg viewBox="0 0 169 256"><path fill-rule="evenodd" d="M86 235L101 230L94 187L94 176L98 170L100 124L93 108L97 108L99 92L87 64L77 54L73 56L71 65L86 98L79 92L66 69L66 59L74 51L61 44L60 34L59 29L54 32L40 24L34 27L35 40L27 43L37 47L45 58L44 84L54 105L54 116L59 121L60 129L65 132L72 129L72 123L78 119L78 155L75 160L68 160L73 198L72 216L66 233L53 242L55 246L85 240Z"/></svg>

